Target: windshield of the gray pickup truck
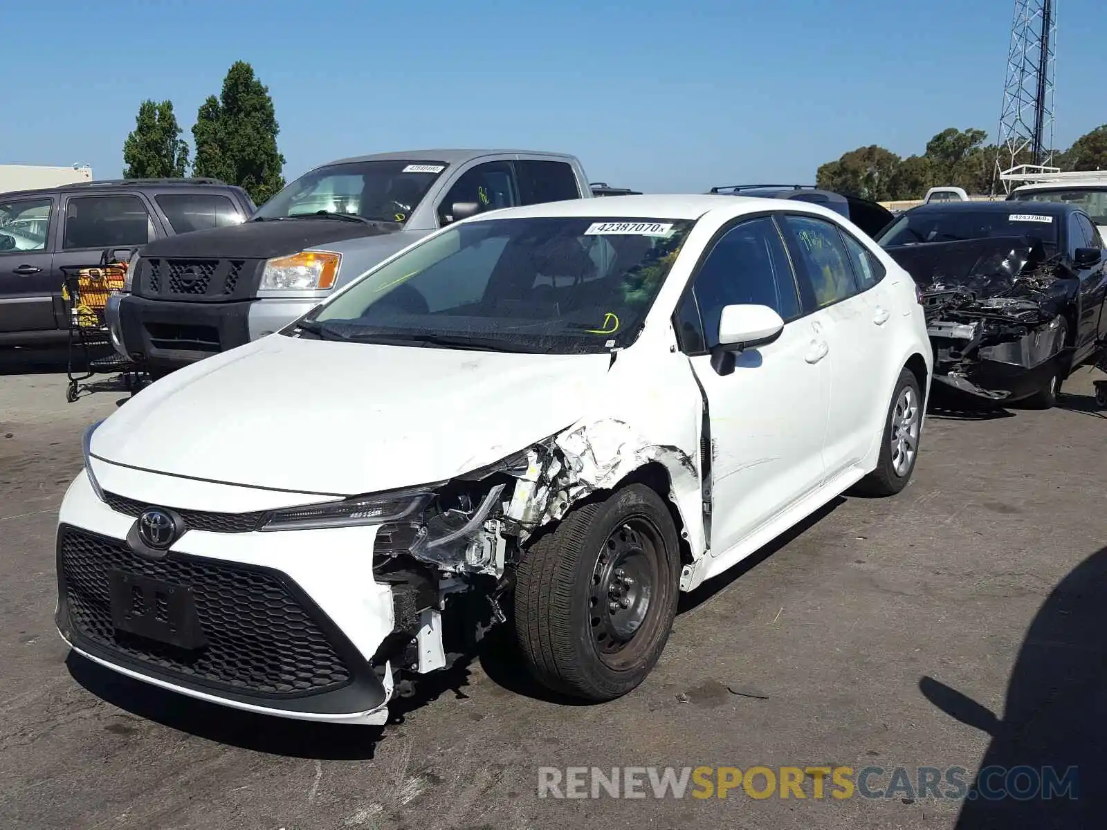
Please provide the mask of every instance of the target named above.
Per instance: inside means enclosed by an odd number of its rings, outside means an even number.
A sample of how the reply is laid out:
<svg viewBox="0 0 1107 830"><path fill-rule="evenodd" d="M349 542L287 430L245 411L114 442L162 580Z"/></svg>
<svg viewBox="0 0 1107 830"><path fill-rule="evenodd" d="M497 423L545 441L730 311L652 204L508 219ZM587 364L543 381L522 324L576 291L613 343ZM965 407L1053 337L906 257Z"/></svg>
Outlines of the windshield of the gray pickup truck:
<svg viewBox="0 0 1107 830"><path fill-rule="evenodd" d="M446 166L421 159L328 165L296 179L252 218L345 214L371 221L405 222Z"/></svg>

